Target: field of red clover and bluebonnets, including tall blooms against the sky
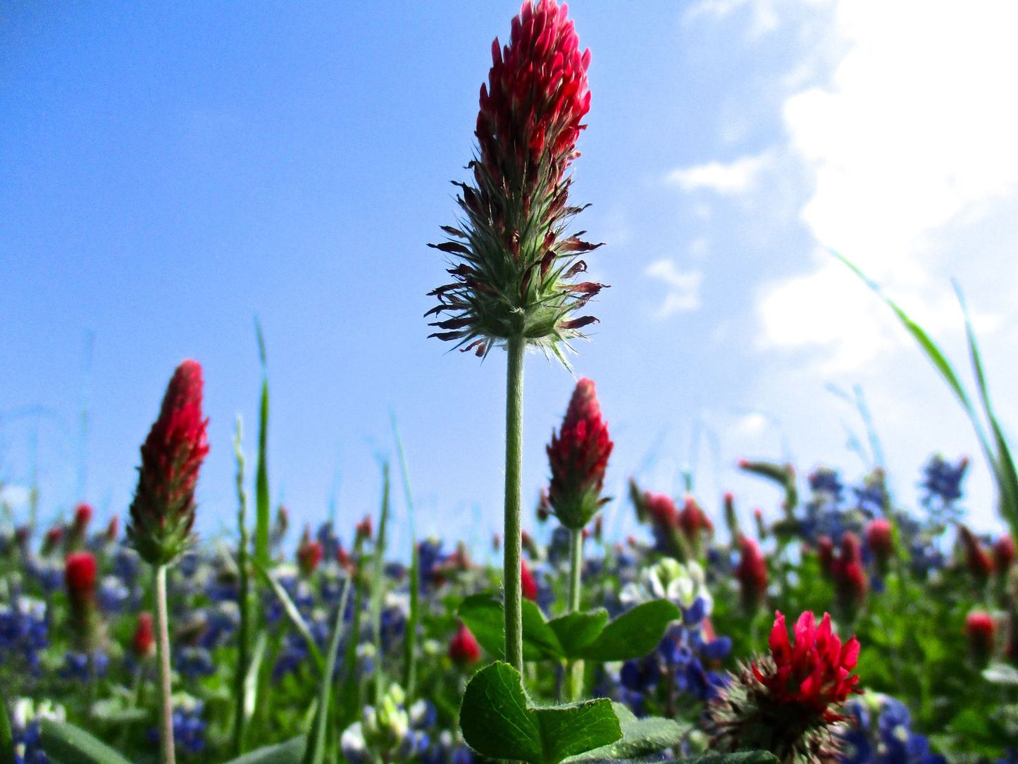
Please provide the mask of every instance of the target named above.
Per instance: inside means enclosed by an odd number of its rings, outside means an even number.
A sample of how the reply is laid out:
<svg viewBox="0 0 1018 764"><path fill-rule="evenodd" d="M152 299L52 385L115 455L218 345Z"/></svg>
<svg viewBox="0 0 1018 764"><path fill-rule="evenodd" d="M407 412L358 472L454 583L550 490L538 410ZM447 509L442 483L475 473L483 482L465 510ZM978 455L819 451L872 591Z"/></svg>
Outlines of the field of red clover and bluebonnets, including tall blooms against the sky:
<svg viewBox="0 0 1018 764"><path fill-rule="evenodd" d="M503 564L434 538L396 561L388 465L353 538L290 529L269 501L268 381L253 470L239 423L233 444L237 534L196 540L210 443L203 369L185 361L142 442L122 529L96 528L88 503L49 528L4 507L0 762L1018 759L1018 478L971 331L985 424L889 303L972 418L1010 535L965 525L969 461L939 454L914 507L880 468L852 484L749 460L740 469L775 489L775 522L756 510L741 524L731 494L635 481L610 499L611 413L586 378L545 452L522 448L528 345L568 366L569 340L597 321L578 314L604 288L577 280L600 244L569 231L588 63L565 6L524 3L493 46L459 218L433 244L452 278L432 293L433 336L508 353ZM549 466L532 514L524 458ZM653 543L606 538L610 500Z"/></svg>

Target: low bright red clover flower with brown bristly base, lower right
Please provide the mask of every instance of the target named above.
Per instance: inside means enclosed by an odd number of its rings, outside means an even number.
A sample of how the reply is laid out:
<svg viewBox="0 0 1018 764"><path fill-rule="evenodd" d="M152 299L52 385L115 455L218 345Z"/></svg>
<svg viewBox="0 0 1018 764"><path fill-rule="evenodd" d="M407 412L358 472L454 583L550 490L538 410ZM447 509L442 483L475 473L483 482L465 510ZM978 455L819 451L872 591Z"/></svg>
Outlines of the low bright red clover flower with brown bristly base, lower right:
<svg viewBox="0 0 1018 764"><path fill-rule="evenodd" d="M741 667L706 709L711 750L725 753L761 749L781 764L834 764L838 761L841 704L859 677L851 673L859 657L852 637L842 644L831 616L819 624L811 612L795 623L789 641L785 616L775 614L769 655Z"/></svg>

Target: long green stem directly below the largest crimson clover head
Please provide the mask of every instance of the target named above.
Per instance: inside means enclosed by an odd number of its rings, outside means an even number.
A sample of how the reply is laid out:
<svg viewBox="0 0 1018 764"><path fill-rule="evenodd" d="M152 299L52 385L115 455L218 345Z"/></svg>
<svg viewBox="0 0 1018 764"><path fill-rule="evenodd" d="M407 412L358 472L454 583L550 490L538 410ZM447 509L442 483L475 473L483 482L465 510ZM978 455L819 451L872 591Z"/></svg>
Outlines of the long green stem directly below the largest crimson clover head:
<svg viewBox="0 0 1018 764"><path fill-rule="evenodd" d="M506 661L523 673L523 592L520 493L523 469L523 353L526 338L522 334L507 341L506 368L506 503L505 503L505 580Z"/></svg>

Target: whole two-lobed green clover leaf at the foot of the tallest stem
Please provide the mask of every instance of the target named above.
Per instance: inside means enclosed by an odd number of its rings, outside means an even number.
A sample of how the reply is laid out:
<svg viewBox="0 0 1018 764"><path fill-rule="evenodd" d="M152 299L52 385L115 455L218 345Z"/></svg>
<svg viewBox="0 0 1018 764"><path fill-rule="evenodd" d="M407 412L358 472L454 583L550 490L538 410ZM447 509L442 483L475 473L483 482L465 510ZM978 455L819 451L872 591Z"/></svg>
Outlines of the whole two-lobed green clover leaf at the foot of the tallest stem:
<svg viewBox="0 0 1018 764"><path fill-rule="evenodd" d="M459 714L466 743L492 759L559 764L622 736L607 698L568 706L536 708L527 702L519 673L496 662L466 686Z"/></svg>

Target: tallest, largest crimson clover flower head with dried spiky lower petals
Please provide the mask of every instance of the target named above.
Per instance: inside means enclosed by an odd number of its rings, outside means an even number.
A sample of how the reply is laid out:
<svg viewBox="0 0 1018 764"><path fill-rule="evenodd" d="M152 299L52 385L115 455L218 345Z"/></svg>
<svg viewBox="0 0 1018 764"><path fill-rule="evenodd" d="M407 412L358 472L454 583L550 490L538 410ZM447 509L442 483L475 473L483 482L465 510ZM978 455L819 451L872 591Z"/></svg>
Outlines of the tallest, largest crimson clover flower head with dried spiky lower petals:
<svg viewBox="0 0 1018 764"><path fill-rule="evenodd" d="M555 0L526 0L509 45L492 44L472 182L454 181L462 218L443 226L448 240L430 244L458 261L453 280L430 292L439 302L425 314L437 319L431 336L478 357L522 337L565 362L559 343L597 321L574 314L604 284L572 279L586 271L580 254L601 244L566 232L583 209L569 203L569 167L590 107L590 52L580 52L567 12Z"/></svg>

